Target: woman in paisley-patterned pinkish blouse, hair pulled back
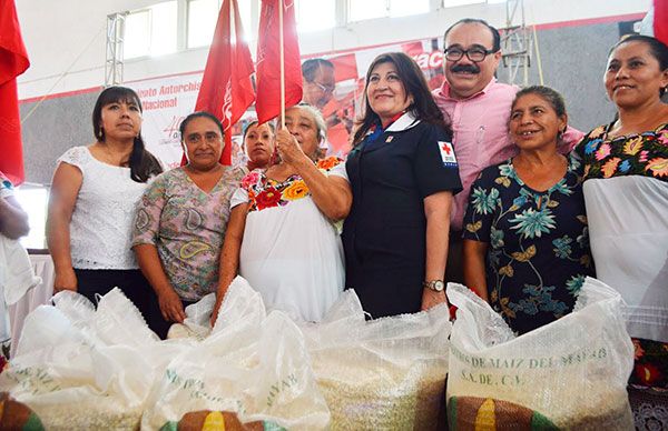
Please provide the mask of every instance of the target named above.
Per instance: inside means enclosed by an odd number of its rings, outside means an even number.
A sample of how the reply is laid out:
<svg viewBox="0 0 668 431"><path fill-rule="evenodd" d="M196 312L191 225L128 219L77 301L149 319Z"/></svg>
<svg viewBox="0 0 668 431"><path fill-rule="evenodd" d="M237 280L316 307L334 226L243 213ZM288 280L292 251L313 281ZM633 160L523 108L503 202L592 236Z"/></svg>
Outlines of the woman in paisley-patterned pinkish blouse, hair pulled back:
<svg viewBox="0 0 668 431"><path fill-rule="evenodd" d="M186 305L214 292L229 199L244 176L220 164L223 126L208 112L180 124L187 164L155 179L137 206L132 248L158 300L150 304L151 328L165 338L183 322Z"/></svg>

